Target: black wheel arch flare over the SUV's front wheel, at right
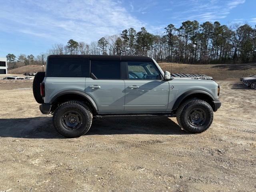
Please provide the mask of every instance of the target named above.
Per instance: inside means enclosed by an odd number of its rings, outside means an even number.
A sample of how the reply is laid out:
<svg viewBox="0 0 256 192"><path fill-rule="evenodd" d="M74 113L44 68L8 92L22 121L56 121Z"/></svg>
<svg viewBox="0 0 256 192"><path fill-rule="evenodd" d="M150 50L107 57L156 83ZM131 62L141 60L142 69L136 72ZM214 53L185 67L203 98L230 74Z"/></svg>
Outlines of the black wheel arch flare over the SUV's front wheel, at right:
<svg viewBox="0 0 256 192"><path fill-rule="evenodd" d="M186 101L188 99L192 99L192 98L198 98L198 99L208 102L210 104L210 106L212 107L212 109L215 110L215 105L213 103L213 101L215 100L214 97L210 93L208 93L204 90L190 90L190 91L183 93L175 101L175 103L172 107L172 110L173 111L177 110L178 107L180 106L180 104L182 104L184 101Z"/></svg>

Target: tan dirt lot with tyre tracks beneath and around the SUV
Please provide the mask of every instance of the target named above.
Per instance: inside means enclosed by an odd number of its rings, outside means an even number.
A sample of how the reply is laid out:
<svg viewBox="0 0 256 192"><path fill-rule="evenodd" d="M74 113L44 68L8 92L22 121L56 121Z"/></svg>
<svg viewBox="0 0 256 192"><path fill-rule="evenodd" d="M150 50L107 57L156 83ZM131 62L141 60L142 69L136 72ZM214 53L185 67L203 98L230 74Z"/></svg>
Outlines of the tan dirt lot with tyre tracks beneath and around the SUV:
<svg viewBox="0 0 256 192"><path fill-rule="evenodd" d="M202 134L139 116L94 119L86 136L66 139L31 80L0 80L0 191L256 191L256 91L218 83L222 107Z"/></svg>

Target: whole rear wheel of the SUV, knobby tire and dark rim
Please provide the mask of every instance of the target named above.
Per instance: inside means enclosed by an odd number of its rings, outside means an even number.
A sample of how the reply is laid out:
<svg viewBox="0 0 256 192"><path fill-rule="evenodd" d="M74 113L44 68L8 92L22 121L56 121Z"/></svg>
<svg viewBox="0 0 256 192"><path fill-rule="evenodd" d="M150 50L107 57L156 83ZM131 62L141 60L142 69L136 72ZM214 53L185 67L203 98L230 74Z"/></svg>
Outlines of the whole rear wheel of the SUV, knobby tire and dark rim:
<svg viewBox="0 0 256 192"><path fill-rule="evenodd" d="M53 115L54 128L64 137L80 137L92 125L92 112L90 108L80 101L62 103Z"/></svg>

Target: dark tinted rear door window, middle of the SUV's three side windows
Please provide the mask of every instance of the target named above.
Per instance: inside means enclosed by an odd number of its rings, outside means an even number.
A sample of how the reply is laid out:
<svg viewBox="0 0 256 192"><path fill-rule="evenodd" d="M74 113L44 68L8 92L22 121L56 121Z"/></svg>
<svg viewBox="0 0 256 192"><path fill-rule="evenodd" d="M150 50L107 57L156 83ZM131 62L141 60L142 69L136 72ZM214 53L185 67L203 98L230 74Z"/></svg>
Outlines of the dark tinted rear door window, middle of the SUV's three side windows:
<svg viewBox="0 0 256 192"><path fill-rule="evenodd" d="M120 79L120 61L115 60L92 60L91 73L97 79Z"/></svg>

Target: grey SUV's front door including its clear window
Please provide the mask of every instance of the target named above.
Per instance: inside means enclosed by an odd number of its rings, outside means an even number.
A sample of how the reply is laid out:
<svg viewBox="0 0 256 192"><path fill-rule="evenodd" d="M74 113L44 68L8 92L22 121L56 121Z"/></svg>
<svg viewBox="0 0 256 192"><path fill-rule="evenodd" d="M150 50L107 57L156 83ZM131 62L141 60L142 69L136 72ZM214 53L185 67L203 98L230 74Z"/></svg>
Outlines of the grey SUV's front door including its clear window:
<svg viewBox="0 0 256 192"><path fill-rule="evenodd" d="M125 111L164 111L168 107L169 82L161 78L153 62L128 61Z"/></svg>

